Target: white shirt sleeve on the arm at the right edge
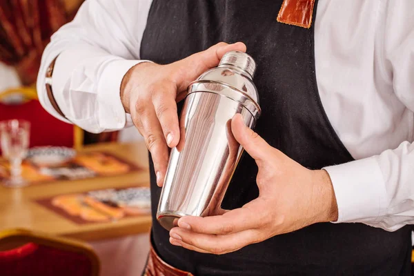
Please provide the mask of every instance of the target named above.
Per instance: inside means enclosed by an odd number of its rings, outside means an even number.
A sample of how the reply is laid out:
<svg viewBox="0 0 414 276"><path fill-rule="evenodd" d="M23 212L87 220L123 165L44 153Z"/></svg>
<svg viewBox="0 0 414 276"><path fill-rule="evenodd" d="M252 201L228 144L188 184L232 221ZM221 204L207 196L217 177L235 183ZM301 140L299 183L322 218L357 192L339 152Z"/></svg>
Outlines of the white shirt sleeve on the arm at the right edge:
<svg viewBox="0 0 414 276"><path fill-rule="evenodd" d="M414 1L382 1L376 70L414 112ZM381 122L377 122L381 124ZM324 168L338 205L336 222L362 222L385 230L414 224L414 118L411 135L380 155Z"/></svg>

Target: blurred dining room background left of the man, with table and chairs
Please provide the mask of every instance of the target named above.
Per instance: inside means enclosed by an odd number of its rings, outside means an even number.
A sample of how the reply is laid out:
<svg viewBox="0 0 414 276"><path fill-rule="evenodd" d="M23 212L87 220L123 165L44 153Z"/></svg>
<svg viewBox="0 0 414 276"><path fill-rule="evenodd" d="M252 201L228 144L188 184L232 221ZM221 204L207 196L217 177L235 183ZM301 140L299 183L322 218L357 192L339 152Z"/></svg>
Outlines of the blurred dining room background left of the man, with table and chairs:
<svg viewBox="0 0 414 276"><path fill-rule="evenodd" d="M141 275L148 154L135 128L92 134L43 110L51 35L83 0L0 0L1 275Z"/></svg>

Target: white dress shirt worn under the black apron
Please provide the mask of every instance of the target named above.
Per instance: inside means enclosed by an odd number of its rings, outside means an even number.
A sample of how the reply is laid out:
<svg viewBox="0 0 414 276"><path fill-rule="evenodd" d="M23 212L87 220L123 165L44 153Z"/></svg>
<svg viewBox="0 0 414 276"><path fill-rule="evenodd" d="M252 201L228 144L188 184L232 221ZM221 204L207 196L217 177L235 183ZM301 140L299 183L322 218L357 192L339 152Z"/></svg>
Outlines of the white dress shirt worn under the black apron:
<svg viewBox="0 0 414 276"><path fill-rule="evenodd" d="M43 77L60 54L52 88L66 117L90 132L130 126L119 87L141 61L150 6L150 0L83 3L43 54L37 89L44 108L63 119L48 101ZM325 168L337 198L337 222L386 230L414 224L413 14L413 0L318 3L317 86L328 119L356 159Z"/></svg>

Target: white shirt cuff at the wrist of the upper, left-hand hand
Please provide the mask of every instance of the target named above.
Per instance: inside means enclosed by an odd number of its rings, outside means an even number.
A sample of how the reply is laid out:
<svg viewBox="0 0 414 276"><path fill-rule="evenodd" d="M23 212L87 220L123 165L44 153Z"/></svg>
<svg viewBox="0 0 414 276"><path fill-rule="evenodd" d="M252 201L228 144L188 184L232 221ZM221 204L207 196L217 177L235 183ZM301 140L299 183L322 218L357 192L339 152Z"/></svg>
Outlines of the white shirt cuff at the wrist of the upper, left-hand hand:
<svg viewBox="0 0 414 276"><path fill-rule="evenodd" d="M132 66L147 60L116 60L103 70L98 86L99 126L106 130L119 130L126 126L126 112L122 106L121 82Z"/></svg>

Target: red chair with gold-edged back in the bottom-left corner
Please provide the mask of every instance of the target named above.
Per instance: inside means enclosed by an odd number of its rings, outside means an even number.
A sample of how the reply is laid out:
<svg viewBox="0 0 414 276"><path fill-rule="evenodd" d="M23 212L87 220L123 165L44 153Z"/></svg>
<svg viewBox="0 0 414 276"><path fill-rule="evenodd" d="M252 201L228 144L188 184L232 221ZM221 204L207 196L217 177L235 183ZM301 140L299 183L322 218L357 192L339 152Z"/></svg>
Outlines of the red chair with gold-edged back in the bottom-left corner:
<svg viewBox="0 0 414 276"><path fill-rule="evenodd" d="M6 230L0 233L0 246L23 244L0 251L0 273L8 276L97 276L99 260L90 246L72 239Z"/></svg>

